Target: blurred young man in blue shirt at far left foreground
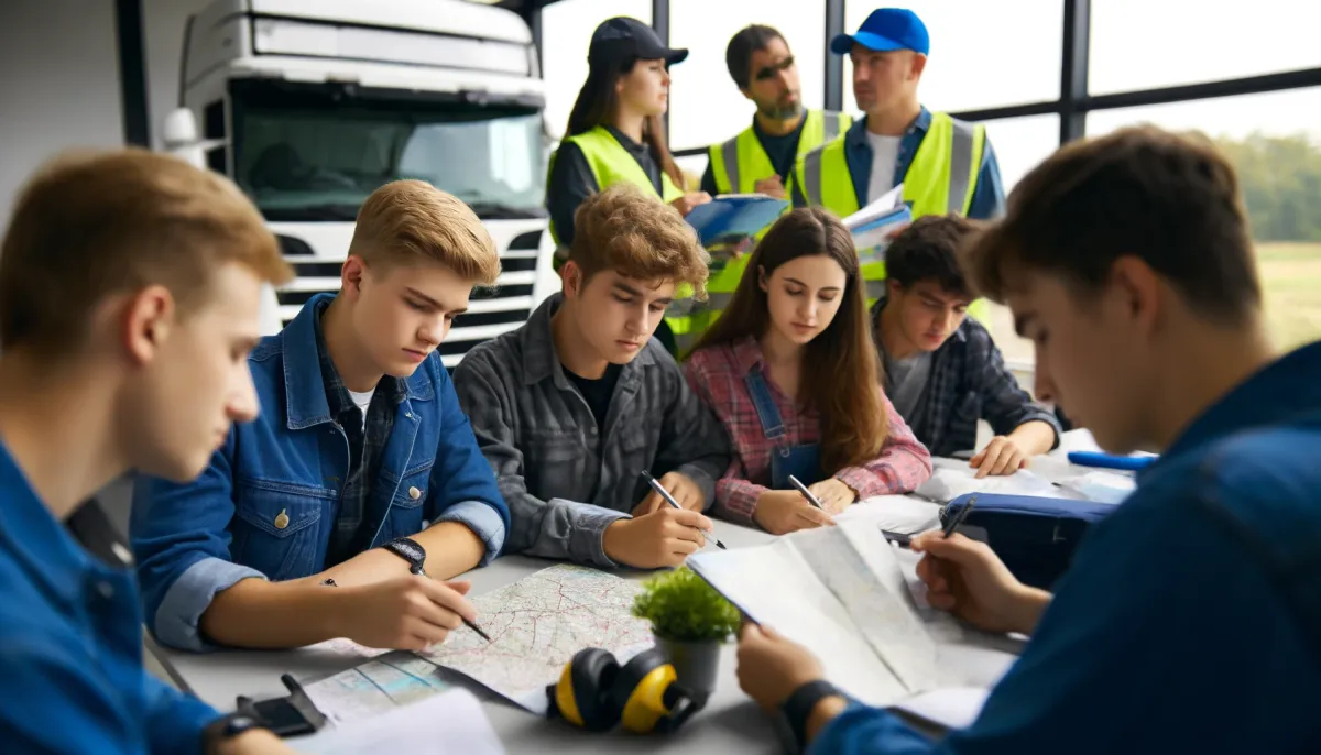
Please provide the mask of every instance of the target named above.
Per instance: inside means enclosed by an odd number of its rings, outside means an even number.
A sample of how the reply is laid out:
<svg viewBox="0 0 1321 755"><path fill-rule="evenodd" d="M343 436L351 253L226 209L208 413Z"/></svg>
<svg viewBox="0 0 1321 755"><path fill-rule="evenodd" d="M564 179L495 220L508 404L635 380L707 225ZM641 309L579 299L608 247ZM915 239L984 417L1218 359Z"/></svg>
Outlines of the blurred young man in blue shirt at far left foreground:
<svg viewBox="0 0 1321 755"><path fill-rule="evenodd" d="M279 754L143 667L133 574L62 521L129 470L197 476L258 412L247 352L289 269L223 178L141 150L66 158L0 249L0 748Z"/></svg>

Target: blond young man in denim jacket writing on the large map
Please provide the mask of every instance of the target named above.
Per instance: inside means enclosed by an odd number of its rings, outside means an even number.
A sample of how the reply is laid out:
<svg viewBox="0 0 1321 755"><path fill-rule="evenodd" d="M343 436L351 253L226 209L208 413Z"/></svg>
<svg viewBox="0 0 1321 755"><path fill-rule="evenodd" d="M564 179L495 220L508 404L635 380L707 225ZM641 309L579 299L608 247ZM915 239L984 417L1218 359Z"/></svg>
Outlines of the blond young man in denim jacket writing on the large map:
<svg viewBox="0 0 1321 755"><path fill-rule="evenodd" d="M419 649L473 619L466 582L509 509L436 346L499 275L473 211L421 181L358 213L338 294L250 363L267 412L192 484L140 480L133 550L155 636L177 648L330 638Z"/></svg>

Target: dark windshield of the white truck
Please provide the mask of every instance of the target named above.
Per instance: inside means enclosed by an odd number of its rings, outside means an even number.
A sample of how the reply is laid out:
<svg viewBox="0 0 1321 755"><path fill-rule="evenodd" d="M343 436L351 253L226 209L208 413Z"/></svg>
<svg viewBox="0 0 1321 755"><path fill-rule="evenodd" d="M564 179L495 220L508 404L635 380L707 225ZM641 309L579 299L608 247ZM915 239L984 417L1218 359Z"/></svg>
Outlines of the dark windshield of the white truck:
<svg viewBox="0 0 1321 755"><path fill-rule="evenodd" d="M444 189L483 219L544 214L535 107L252 84L231 90L234 169L268 220L353 220L398 178Z"/></svg>

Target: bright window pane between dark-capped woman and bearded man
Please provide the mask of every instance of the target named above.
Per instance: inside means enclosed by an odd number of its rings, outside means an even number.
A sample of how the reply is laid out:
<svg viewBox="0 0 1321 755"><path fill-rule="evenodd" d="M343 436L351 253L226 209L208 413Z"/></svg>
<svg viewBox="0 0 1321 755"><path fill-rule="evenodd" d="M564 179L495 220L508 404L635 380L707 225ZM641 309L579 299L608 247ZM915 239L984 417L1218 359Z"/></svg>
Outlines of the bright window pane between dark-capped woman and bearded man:
<svg viewBox="0 0 1321 755"><path fill-rule="evenodd" d="M752 123L756 106L729 78L725 48L749 24L779 30L798 66L802 102L824 102L826 7L822 0L670 0L670 44L688 48L672 69L670 144L675 149L724 141Z"/></svg>

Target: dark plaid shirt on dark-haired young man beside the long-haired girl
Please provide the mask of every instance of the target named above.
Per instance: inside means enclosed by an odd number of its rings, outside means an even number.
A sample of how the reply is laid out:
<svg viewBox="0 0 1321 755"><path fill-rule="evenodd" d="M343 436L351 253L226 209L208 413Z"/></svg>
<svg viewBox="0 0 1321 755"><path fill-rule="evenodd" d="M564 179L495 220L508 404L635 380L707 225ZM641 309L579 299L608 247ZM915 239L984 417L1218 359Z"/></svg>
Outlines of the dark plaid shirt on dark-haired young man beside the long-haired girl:
<svg viewBox="0 0 1321 755"><path fill-rule="evenodd" d="M881 354L885 354L885 345L877 323L885 301L881 297L872 305L872 337ZM885 388L892 388L889 376ZM935 350L931 376L918 403L919 408L925 407L925 413L917 412L919 421L904 418L933 457L975 447L978 420L991 422L997 436L1007 436L1025 422L1046 422L1054 428L1055 443L1059 443L1059 420L1018 385L991 334L971 317Z"/></svg>

